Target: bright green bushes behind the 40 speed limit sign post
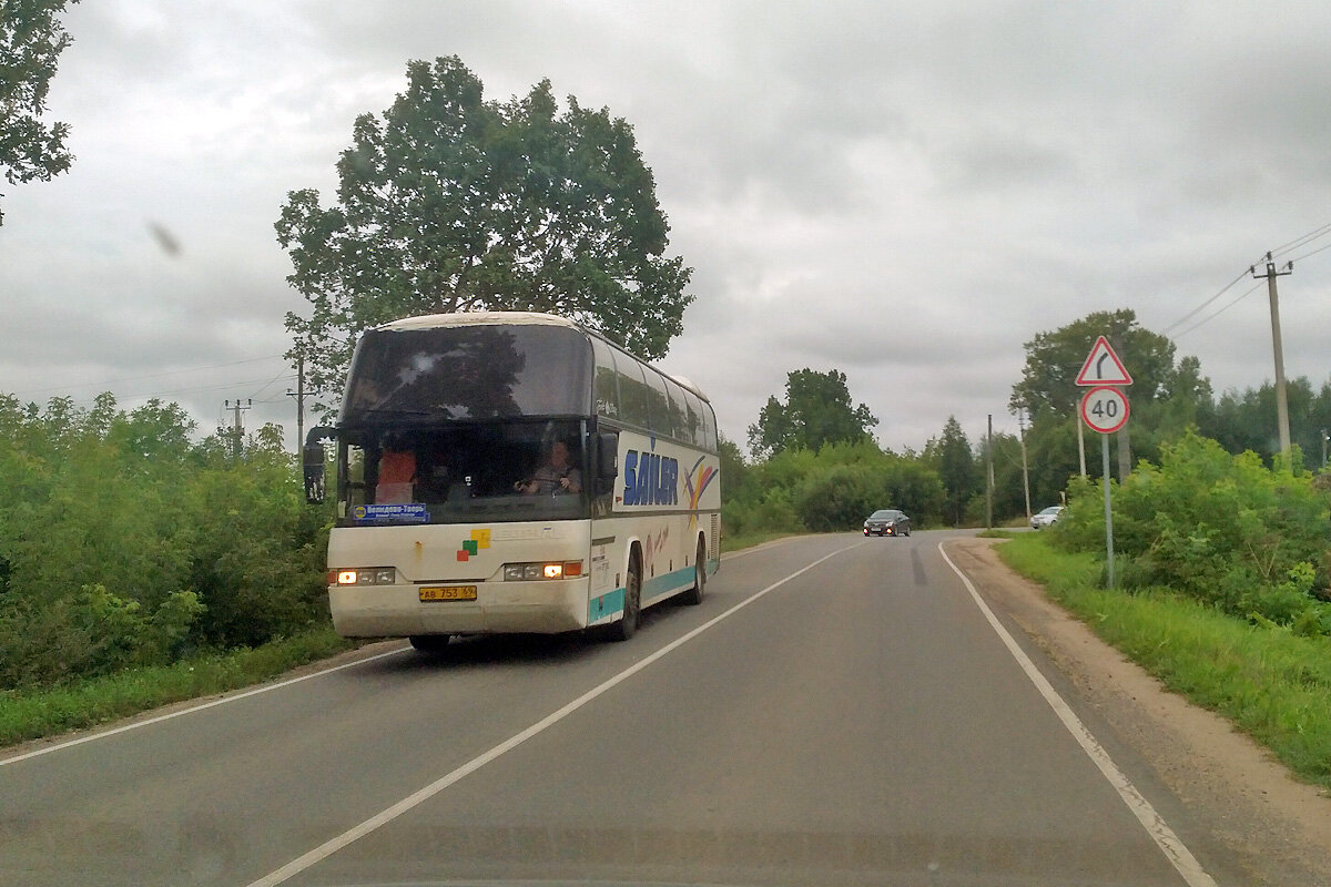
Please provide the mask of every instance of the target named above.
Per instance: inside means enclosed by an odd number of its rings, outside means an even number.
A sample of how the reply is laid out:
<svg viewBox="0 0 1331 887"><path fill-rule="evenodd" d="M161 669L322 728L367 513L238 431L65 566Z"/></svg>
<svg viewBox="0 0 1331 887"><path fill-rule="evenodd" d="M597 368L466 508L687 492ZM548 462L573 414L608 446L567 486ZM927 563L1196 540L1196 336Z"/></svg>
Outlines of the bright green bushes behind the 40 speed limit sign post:
<svg viewBox="0 0 1331 887"><path fill-rule="evenodd" d="M1226 613L1331 634L1331 605L1319 600L1328 584L1328 496L1311 475L1266 468L1252 452L1234 456L1189 431L1113 495L1126 588L1166 585ZM1070 515L1053 533L1059 545L1103 552L1102 496L1074 480Z"/></svg>

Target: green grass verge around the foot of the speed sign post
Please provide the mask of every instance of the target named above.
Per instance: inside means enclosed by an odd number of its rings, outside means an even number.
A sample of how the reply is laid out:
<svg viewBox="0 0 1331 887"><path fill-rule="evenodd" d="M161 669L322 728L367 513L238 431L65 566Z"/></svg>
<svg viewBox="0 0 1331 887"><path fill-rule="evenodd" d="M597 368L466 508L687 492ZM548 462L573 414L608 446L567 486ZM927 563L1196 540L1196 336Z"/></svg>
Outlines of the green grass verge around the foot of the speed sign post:
<svg viewBox="0 0 1331 887"><path fill-rule="evenodd" d="M1233 721L1300 779L1331 787L1331 638L1251 625L1166 588L1097 588L1098 559L1058 552L1037 533L998 553L1165 686Z"/></svg>

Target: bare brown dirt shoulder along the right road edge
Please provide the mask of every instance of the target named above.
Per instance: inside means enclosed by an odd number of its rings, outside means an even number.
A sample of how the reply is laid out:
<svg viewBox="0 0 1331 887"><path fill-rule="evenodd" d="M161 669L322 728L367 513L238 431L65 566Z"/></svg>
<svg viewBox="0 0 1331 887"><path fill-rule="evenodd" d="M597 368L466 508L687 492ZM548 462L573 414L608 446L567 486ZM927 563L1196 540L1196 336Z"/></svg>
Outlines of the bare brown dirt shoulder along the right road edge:
<svg viewBox="0 0 1331 887"><path fill-rule="evenodd" d="M1221 715L1189 703L1010 570L988 539L948 545L1082 697L1258 883L1331 884L1331 797Z"/></svg>

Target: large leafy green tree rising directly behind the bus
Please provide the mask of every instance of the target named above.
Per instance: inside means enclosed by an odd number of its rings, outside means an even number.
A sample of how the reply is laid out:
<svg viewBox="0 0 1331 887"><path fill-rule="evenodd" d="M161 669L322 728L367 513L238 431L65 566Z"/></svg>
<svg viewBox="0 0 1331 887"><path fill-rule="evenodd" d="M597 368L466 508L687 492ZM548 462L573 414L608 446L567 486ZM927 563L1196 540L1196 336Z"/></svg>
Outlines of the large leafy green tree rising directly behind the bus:
<svg viewBox="0 0 1331 887"><path fill-rule="evenodd" d="M355 335L399 317L552 311L647 358L692 301L632 128L548 81L486 101L455 56L407 64L407 88L355 120L335 206L291 191L277 239L310 317L289 314L315 388L346 374Z"/></svg>

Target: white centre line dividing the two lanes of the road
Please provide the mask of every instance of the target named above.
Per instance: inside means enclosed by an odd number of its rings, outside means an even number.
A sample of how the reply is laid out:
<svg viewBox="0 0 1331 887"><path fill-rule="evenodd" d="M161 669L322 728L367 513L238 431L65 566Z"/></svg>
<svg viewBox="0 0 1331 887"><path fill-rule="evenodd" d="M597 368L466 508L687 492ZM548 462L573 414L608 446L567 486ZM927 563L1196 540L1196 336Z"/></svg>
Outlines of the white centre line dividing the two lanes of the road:
<svg viewBox="0 0 1331 887"><path fill-rule="evenodd" d="M856 543L856 545L862 545L862 544L864 544L862 541ZM415 807L415 806L418 806L421 803L425 803L426 801L429 801L434 795L439 794L441 791L443 791L445 789L447 789L453 783L458 782L463 777L466 777L466 775L469 775L471 773L475 773L476 770L479 770L480 767L486 766L487 763L490 763L495 758L499 758L503 754L506 754L508 751L512 751L514 749L516 749L519 745L522 745L527 739L530 739L534 735L542 733L543 730L554 726L555 723L559 723L560 721L563 721L570 714L572 714L578 709L583 707L584 705L587 705L588 702L591 702L596 697L599 697L603 693L606 693L607 690L610 690L610 689L612 689L612 688L623 684L624 681L627 681L628 678L631 678L632 676L635 676L639 672L642 672L643 669L646 669L652 662L656 662L658 660L660 660L663 656L666 656L667 653L669 653L675 648L681 646L681 645L689 642L691 640L693 640L695 637L697 637L699 634L701 634L707 629L712 628L713 625L716 625L721 620L724 620L724 618L727 618L729 616L733 616L736 612L739 612L743 608L748 606L749 604L752 604L757 598L763 597L768 592L776 590L781 585L785 585L787 582L789 582L792 578L796 578L797 576L801 576L803 573L809 572L811 569L813 569L819 564L821 564L821 563L824 563L827 560L831 560L831 559L836 557L837 555L840 555L843 552L851 551L856 545L847 545L845 548L839 548L837 551L832 552L831 555L824 555L823 557L817 559L812 564L808 564L808 565L803 567L801 569L795 570L793 573L791 573L785 578L780 578L780 580L772 582L771 585L768 585L767 588L764 588L763 590L756 592L756 593L753 593L749 597L745 597L743 601L740 601L739 604L736 604L731 609L725 610L724 613L720 613L719 616L715 616L715 617L709 618L708 621L705 621L701 625L699 625L697 628L695 628L692 632L689 632L689 633L687 633L687 634L684 634L681 637L675 638L673 641L671 641L669 644L667 644L662 649L656 650L651 656L648 656L648 657L646 657L643 660L639 660L638 662L635 662L634 665L628 666L627 669L624 669L619 674L616 674L616 676L614 676L611 678L607 678L602 684L598 684L595 688L592 688L591 690L587 690L580 697L578 697L576 699L574 699L568 705L563 706L558 711L554 711L552 714L546 715L540 721L536 721L535 723L532 723L530 727L527 727L522 733L514 734L512 737L504 739L503 742L500 742L495 747L490 749L488 751L484 751L484 753L476 755L475 758L473 758L471 761L466 762L465 765L462 765L457 770L453 770L451 773L449 773L449 774L446 774L446 775L435 779L434 782L431 782L426 787L423 787L423 789L421 789L418 791L414 791L413 794L407 795L406 798L403 798L402 801L397 802L391 807L386 807L385 810L381 810L379 813L374 814L373 817L370 817L365 822L362 822L362 823L359 823L357 826L353 826L351 828L347 828L341 835L323 842L322 844L319 844L314 850L309 851L307 854L305 854L302 856L298 856L297 859L293 859L291 862L286 863L285 866L282 866L277 871L269 872L268 875L264 875L258 880L252 882L249 884L249 887L276 887L276 884L281 884L286 879L289 879L289 878L291 878L294 875L301 874L302 871L305 871L310 866L314 866L315 863L322 862L323 859L327 859L329 856L331 856L333 854L335 854L338 850L342 850L347 844L350 844L350 843L353 843L353 842L363 838L365 835L370 834L371 831L374 831L374 830L377 830L377 828L379 828L382 826L389 824L390 822L393 822L394 819L397 819L402 814L407 813L409 810L411 810L413 807Z"/></svg>

